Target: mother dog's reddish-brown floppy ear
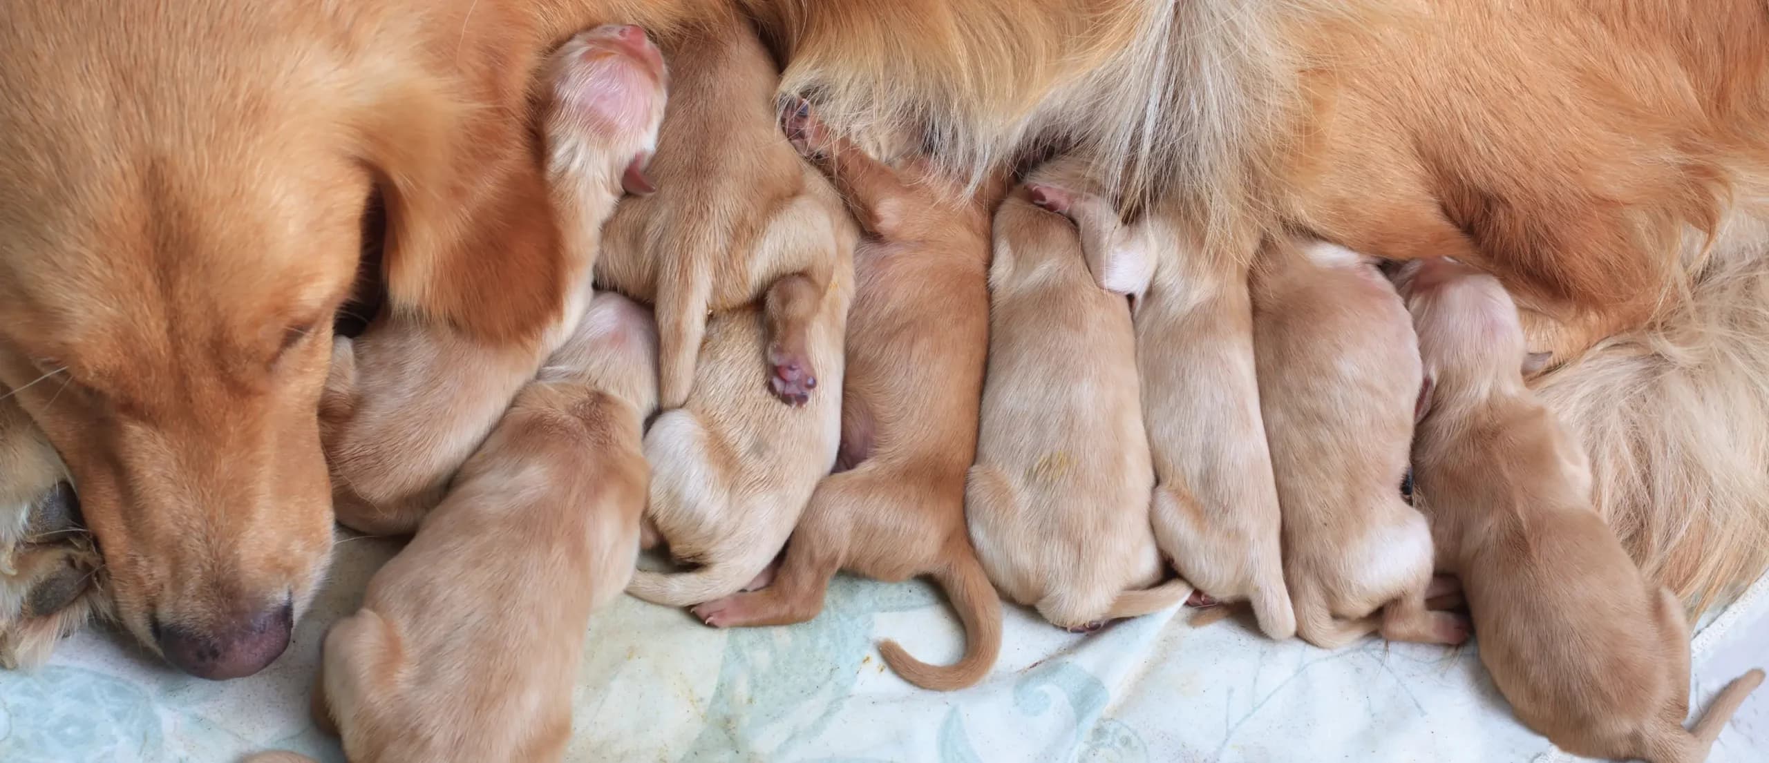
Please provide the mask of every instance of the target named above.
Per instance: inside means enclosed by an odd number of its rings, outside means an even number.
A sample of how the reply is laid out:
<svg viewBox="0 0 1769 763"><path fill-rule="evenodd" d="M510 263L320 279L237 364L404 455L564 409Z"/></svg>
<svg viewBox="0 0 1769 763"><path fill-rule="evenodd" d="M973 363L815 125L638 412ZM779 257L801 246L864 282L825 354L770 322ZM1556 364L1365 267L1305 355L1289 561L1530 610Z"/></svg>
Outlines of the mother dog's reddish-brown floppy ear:
<svg viewBox="0 0 1769 763"><path fill-rule="evenodd" d="M557 318L559 233L522 118L414 76L379 92L357 129L386 200L393 311L488 343L524 341Z"/></svg>

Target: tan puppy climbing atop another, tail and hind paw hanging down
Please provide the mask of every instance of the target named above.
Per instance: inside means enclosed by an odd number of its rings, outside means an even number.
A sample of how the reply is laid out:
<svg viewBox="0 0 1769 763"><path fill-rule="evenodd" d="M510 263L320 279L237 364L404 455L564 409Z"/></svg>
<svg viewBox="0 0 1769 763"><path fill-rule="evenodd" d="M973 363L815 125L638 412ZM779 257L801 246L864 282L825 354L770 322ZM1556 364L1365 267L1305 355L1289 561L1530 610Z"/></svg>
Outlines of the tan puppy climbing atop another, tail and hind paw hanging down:
<svg viewBox="0 0 1769 763"><path fill-rule="evenodd" d="M757 298L768 371L745 366L745 380L801 406L835 382L810 359L808 332L837 258L824 240L800 238L824 226L824 182L780 136L780 71L748 21L695 26L665 48L679 87L651 171L681 193L623 205L596 283L655 306L665 410L688 399L708 320Z"/></svg>

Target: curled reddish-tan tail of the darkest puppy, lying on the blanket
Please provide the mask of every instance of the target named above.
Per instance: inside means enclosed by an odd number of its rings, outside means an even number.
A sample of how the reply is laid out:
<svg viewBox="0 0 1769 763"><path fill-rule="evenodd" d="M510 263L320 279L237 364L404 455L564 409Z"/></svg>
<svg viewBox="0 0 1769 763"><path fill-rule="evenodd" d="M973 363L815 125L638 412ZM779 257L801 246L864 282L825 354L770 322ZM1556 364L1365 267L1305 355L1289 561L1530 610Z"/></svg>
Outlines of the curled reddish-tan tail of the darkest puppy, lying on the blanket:
<svg viewBox="0 0 1769 763"><path fill-rule="evenodd" d="M964 657L950 666L930 666L904 652L897 641L879 641L879 653L902 680L922 689L953 691L980 682L1001 655L1001 595L989 583L968 537L950 540L946 563L934 579L946 590L964 622Z"/></svg>

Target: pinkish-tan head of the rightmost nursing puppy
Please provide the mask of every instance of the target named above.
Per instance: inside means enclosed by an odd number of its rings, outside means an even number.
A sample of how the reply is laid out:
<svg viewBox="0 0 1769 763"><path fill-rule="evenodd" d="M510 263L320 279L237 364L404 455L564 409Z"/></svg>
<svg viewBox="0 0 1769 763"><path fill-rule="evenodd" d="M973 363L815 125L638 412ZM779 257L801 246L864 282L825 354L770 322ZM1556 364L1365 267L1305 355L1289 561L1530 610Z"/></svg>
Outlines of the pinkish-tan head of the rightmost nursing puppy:
<svg viewBox="0 0 1769 763"><path fill-rule="evenodd" d="M1394 286L1413 316L1428 385L1521 385L1539 362L1525 350L1518 307L1497 277L1431 258L1401 265Z"/></svg>

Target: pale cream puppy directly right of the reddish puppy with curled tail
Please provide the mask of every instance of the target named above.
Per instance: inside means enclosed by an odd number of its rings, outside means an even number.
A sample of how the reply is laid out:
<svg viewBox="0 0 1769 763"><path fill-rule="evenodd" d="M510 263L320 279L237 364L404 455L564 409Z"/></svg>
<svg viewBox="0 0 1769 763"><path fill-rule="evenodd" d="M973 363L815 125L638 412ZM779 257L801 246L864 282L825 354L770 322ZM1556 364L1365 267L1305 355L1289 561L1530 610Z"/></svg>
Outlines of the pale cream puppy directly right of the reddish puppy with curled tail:
<svg viewBox="0 0 1769 763"><path fill-rule="evenodd" d="M1183 579L1146 588L1164 569L1148 523L1155 473L1125 297L1146 288L1148 263L1134 258L1148 251L1097 247L1090 274L1063 214L1116 214L1084 170L1070 159L1047 164L996 210L989 378L966 487L989 579L1070 631L1180 604L1192 592Z"/></svg>

